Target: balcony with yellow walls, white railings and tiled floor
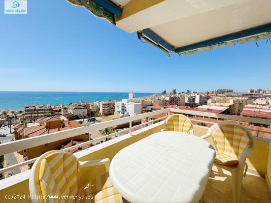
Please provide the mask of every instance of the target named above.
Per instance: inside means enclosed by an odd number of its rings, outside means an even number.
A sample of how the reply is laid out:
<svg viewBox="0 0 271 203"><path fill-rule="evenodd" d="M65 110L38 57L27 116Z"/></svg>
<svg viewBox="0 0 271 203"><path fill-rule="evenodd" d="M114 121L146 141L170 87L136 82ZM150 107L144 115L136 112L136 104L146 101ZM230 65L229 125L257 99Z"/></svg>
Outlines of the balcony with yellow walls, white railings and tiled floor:
<svg viewBox="0 0 271 203"><path fill-rule="evenodd" d="M112 133L107 136L99 137L97 139L90 140L86 143L71 146L65 149L64 151L69 151L71 149L76 149L83 145L90 145L91 143L97 143L105 138L112 137L113 139L103 142L99 145L94 145L88 147L84 150L74 153L74 155L80 161L102 159L102 158L112 158L117 152L119 152L124 147L131 145L143 138L146 138L153 133L159 132L164 124L164 121L154 123L156 119L148 121L147 123L141 123L137 126L132 126L134 120L143 119L145 117L155 116L158 114L165 114L162 118L166 118L169 114L186 114L191 116L191 120L197 122L203 122L199 117L210 117L219 120L232 120L237 122L246 122L246 123L260 123L265 125L271 125L271 120L259 119L259 118L249 118L242 116L229 116L229 115L219 115L213 113L205 112L194 112L188 110L178 110L178 109L163 109L155 112L150 112L146 114L140 114L137 116L130 116L115 120L110 120L102 123L97 123L88 126L82 126L70 130L65 130L61 132L51 133L48 135L37 136L34 138L22 139L10 143L5 143L0 145L0 155L12 153L14 151L24 150L26 148L45 145L48 144L48 141L55 142L65 138L71 138L76 135L81 135L85 133L90 133L92 136L97 133L100 129L105 127L111 127L120 125L123 123L130 123L130 127L119 132ZM195 117L197 116L197 117ZM198 118L198 119L197 119ZM214 122L204 121L206 124L212 125ZM150 123L154 123L151 124ZM149 125L148 125L149 124ZM146 127L142 127L142 126ZM147 126L148 125L148 126ZM140 126L142 127L141 129ZM137 130L135 130L137 129ZM198 124L193 125L194 136L205 135L209 129L206 126L201 126ZM263 132L259 129L254 129L251 127L251 130ZM120 133L127 133L122 136L116 137L115 135ZM271 135L270 132L263 132ZM192 136L192 135L191 135ZM271 138L271 137L270 137ZM243 178L243 188L241 191L241 203L271 203L271 139L269 137L256 136L253 137L255 141L255 147L251 154L247 158L248 171L246 176ZM211 140L208 140L212 144ZM32 164L36 158L24 161L19 164L15 164L3 169L0 169L0 173L9 173L10 171L19 168L21 171L25 165ZM11 203L11 202L26 202L30 203L31 200L28 198L29 195L29 175L30 170L26 170L19 174L12 175L0 180L0 202L1 203ZM105 170L102 166L92 167L91 173L88 171L84 172L86 179L91 180L95 177L105 173ZM23 200L7 199L7 195L22 194L26 198ZM231 174L227 173L224 170L216 168L213 166L211 174L208 178L208 183L205 188L205 203L231 203L232 202L232 181Z"/></svg>

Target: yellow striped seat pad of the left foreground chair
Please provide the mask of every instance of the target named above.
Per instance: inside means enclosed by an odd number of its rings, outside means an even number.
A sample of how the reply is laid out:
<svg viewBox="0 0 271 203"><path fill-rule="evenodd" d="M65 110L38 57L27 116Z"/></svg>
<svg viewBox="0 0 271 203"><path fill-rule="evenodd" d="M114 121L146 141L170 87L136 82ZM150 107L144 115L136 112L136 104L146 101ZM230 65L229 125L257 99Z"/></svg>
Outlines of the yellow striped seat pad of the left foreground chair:
<svg viewBox="0 0 271 203"><path fill-rule="evenodd" d="M109 174L104 174L89 182L78 191L81 196L93 196L90 200L76 200L76 203L122 203L122 197L113 187Z"/></svg>

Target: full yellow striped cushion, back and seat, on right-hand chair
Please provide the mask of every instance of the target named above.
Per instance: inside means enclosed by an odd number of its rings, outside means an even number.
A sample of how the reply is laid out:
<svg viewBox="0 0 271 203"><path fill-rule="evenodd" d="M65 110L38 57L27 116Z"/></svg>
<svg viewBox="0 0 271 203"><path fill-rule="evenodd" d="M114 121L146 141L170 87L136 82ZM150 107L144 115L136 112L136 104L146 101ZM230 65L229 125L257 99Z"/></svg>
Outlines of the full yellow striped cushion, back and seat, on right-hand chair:
<svg viewBox="0 0 271 203"><path fill-rule="evenodd" d="M251 140L246 130L237 125L223 125L212 133L217 146L216 164L237 164L241 153L250 146Z"/></svg>

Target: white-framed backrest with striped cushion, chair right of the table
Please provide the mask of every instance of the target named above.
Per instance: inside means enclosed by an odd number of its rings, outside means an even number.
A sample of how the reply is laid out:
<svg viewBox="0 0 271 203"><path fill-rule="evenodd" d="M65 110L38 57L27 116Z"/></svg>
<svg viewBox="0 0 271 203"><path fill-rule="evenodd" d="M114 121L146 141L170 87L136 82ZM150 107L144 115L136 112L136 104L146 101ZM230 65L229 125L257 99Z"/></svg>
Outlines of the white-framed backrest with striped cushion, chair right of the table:
<svg viewBox="0 0 271 203"><path fill-rule="evenodd" d="M216 123L207 134L213 138L218 151L233 159L239 160L244 150L254 146L250 131L236 122Z"/></svg>

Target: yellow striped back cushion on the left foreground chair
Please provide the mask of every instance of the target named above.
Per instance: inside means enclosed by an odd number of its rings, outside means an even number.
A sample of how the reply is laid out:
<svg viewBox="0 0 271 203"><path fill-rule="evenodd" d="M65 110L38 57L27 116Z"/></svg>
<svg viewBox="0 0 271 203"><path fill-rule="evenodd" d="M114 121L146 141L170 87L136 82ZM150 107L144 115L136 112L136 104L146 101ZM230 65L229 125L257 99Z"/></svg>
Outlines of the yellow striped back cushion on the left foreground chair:
<svg viewBox="0 0 271 203"><path fill-rule="evenodd" d="M45 156L39 169L40 187L43 196L77 195L77 160L69 153L55 152ZM45 203L72 202L69 199L47 199Z"/></svg>

